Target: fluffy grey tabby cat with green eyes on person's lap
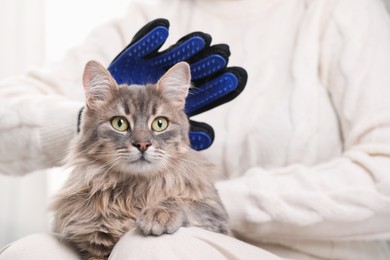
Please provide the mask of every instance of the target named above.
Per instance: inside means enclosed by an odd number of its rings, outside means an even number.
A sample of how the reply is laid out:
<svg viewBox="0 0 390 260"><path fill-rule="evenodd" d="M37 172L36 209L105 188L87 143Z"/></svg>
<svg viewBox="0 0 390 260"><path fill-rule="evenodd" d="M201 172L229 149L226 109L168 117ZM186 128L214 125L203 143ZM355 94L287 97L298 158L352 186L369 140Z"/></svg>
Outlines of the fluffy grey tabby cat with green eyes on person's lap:
<svg viewBox="0 0 390 260"><path fill-rule="evenodd" d="M51 205L54 232L83 259L107 259L134 228L156 236L189 226L230 233L213 186L217 170L190 148L190 82L185 62L146 86L118 86L99 62L86 64L70 175Z"/></svg>

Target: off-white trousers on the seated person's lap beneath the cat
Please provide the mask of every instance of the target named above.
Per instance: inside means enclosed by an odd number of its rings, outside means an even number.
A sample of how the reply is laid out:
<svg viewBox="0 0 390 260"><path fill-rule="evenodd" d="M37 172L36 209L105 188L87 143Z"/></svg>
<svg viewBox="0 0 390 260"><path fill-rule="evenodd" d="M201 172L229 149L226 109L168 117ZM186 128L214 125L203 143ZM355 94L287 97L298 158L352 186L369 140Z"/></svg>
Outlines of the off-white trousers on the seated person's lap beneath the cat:
<svg viewBox="0 0 390 260"><path fill-rule="evenodd" d="M24 237L0 252L0 260L80 260L55 236L35 234ZM171 235L143 236L126 233L115 245L110 260L134 259L281 259L233 237L199 228L180 228Z"/></svg>

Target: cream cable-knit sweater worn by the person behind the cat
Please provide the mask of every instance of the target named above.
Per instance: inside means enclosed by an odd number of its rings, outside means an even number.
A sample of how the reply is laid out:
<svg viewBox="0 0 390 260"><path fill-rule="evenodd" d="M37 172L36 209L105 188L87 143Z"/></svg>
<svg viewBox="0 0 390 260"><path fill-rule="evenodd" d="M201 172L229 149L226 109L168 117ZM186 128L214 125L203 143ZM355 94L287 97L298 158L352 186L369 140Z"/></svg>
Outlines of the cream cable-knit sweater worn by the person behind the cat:
<svg viewBox="0 0 390 260"><path fill-rule="evenodd" d="M149 1L150 2L150 1ZM0 172L58 165L76 135L84 64L109 62L147 21L168 44L200 30L249 74L198 116L237 236L298 259L389 259L390 20L380 0L192 0L132 4L57 64L0 85ZM381 242L382 240L382 242Z"/></svg>

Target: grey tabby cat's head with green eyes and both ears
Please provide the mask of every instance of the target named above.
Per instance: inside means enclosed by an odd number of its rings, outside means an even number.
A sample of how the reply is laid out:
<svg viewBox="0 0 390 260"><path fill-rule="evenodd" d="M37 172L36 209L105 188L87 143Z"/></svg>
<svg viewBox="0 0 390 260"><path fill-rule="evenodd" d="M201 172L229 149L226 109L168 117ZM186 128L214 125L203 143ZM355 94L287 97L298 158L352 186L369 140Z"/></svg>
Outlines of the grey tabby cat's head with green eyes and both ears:
<svg viewBox="0 0 390 260"><path fill-rule="evenodd" d="M91 162L151 174L167 170L190 149L184 113L188 64L177 64L156 85L117 86L106 69L89 62L83 80L87 107L78 149Z"/></svg>

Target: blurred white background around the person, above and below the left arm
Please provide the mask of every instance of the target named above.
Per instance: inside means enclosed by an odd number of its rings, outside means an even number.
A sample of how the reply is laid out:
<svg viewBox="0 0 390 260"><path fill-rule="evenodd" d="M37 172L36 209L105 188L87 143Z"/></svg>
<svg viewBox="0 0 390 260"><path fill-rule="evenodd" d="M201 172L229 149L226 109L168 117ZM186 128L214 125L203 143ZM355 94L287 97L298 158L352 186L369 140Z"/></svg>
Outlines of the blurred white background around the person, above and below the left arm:
<svg viewBox="0 0 390 260"><path fill-rule="evenodd" d="M0 80L61 59L95 26L123 15L130 1L0 0ZM390 10L390 0L383 1ZM47 203L64 177L60 169L23 177L0 173L0 248L49 232Z"/></svg>

